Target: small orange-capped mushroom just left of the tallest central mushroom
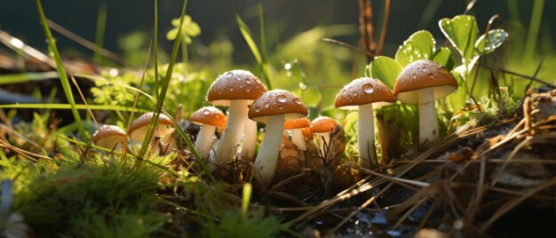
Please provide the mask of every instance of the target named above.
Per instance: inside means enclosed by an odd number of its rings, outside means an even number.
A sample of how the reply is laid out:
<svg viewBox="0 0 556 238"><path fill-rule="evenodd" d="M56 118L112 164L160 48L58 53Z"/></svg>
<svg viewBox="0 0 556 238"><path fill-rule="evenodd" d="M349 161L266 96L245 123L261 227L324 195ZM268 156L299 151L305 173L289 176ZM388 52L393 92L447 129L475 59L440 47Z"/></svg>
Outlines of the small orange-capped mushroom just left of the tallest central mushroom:
<svg viewBox="0 0 556 238"><path fill-rule="evenodd" d="M207 158L216 128L226 126L226 115L216 107L202 107L189 117L189 121L201 125L195 140L195 149L202 158Z"/></svg>

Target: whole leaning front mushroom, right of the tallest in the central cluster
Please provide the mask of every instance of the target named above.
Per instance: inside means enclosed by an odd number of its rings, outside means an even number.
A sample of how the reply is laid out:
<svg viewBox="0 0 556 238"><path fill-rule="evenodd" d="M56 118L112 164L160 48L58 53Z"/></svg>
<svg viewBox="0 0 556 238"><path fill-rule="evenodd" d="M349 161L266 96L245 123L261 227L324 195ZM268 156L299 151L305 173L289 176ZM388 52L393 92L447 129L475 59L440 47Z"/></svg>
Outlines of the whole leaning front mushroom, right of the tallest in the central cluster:
<svg viewBox="0 0 556 238"><path fill-rule="evenodd" d="M301 99L283 90L265 92L250 107L249 118L266 123L265 139L255 160L255 178L262 186L268 186L274 177L284 122L305 117L307 113Z"/></svg>

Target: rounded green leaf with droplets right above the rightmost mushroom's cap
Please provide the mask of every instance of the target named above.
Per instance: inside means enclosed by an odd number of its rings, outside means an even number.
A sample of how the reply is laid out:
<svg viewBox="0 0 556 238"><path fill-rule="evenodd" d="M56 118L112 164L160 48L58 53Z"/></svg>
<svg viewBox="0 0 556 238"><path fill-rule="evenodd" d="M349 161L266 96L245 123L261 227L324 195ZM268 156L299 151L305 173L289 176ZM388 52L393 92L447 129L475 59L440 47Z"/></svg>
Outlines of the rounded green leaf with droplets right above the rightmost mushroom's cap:
<svg viewBox="0 0 556 238"><path fill-rule="evenodd" d="M426 30L420 30L403 42L398 52L396 52L395 59L402 67L405 67L419 59L429 59L433 56L433 51L433 35Z"/></svg>

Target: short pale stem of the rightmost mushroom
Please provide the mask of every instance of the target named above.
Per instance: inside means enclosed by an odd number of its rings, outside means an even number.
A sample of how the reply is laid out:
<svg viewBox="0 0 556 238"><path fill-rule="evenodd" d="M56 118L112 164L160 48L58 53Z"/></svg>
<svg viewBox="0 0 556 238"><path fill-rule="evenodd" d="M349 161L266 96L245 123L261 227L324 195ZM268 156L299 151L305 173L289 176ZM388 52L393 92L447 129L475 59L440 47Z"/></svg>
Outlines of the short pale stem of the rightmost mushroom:
<svg viewBox="0 0 556 238"><path fill-rule="evenodd" d="M438 121L433 88L417 91L419 102L419 145L438 139Z"/></svg>

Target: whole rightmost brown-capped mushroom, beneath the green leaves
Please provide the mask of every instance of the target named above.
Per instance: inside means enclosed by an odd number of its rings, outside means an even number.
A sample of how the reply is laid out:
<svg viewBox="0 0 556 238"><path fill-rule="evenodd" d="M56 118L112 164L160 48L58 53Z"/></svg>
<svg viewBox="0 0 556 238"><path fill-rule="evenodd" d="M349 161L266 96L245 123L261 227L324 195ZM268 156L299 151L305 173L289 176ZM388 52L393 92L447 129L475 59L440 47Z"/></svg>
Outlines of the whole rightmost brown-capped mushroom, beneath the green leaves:
<svg viewBox="0 0 556 238"><path fill-rule="evenodd" d="M431 60L417 60L401 71L393 93L404 103L419 105L419 145L438 139L435 99L457 89L457 80L446 67Z"/></svg>

